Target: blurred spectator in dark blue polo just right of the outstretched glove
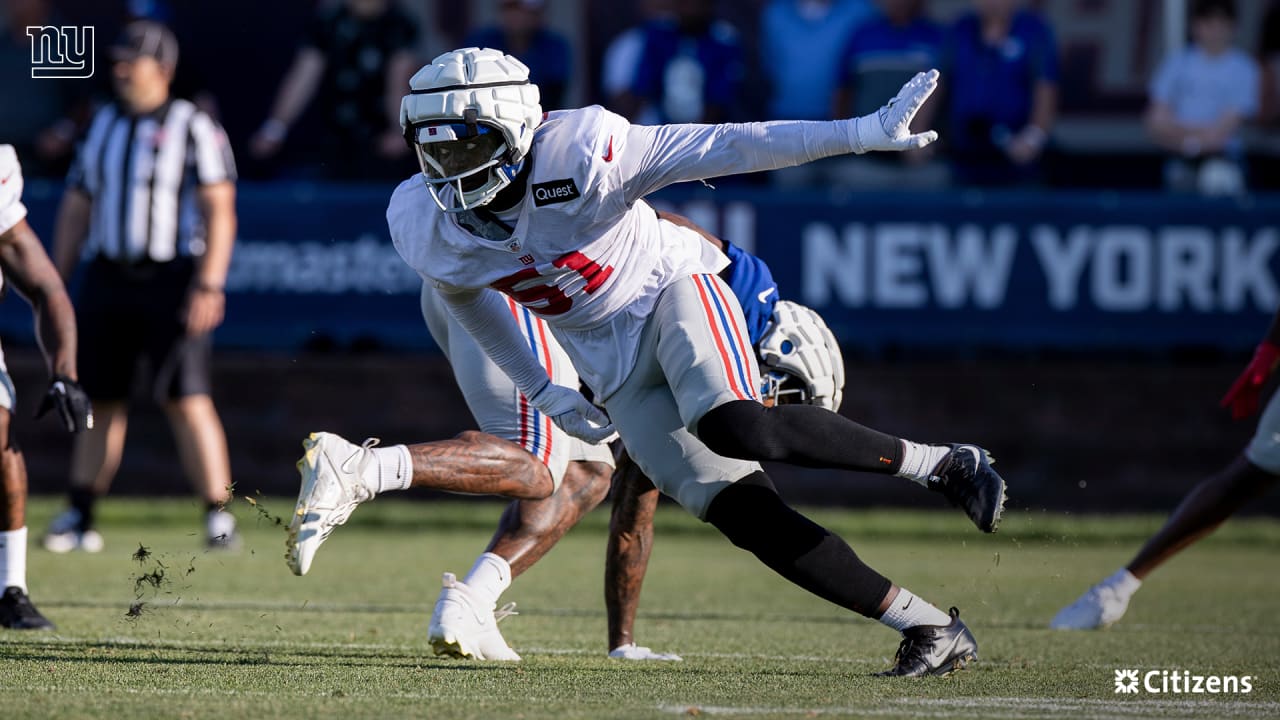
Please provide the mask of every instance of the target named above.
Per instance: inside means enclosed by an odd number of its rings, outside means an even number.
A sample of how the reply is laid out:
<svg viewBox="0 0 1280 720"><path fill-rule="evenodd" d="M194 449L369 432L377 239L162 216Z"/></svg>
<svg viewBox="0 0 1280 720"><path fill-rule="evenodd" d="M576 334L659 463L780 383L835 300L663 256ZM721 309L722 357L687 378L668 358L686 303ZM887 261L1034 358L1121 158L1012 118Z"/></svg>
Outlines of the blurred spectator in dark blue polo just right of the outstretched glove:
<svg viewBox="0 0 1280 720"><path fill-rule="evenodd" d="M952 179L1004 186L1041 179L1057 114L1057 46L1048 23L1019 0L974 0L942 53Z"/></svg>

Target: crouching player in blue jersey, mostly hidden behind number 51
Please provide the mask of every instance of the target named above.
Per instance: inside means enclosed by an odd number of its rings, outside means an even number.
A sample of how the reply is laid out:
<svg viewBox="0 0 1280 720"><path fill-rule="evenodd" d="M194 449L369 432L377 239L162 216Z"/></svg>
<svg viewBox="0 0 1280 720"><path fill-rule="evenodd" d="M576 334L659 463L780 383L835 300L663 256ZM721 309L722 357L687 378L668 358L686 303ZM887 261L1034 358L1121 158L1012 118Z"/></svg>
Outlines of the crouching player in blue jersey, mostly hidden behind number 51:
<svg viewBox="0 0 1280 720"><path fill-rule="evenodd" d="M723 277L744 306L750 309L748 314L753 319L753 343L768 329L765 341L762 342L762 348L768 348L765 361L771 365L771 384L765 395L771 400L777 397L838 404L844 363L835 338L817 314L792 304L780 304L777 284L768 266L758 258L722 242L681 215L658 213L658 217L694 229L730 258L731 264L724 269ZM774 305L787 311L774 313ZM803 310L803 314L795 309ZM480 423L483 433L475 433L475 437L483 437L488 443L506 438L520 445L527 451L524 456L526 465L540 462L550 471L556 487L549 498L517 500L508 507L498 533L463 580L457 580L452 573L444 575L444 591L429 628L429 642L440 655L518 660L520 656L497 629L497 601L516 577L545 555L585 512L599 505L609 489L613 456L605 446L590 446L572 438L531 410L511 379L484 355L471 336L457 327L438 293L429 286L424 286L422 291L422 314L433 338L447 352L463 397ZM527 311L516 313L515 309L513 320L531 346L538 348L552 377L557 382L576 386L577 375L564 351L547 332L545 323ZM822 347L817 348L815 342ZM787 389L792 384L800 388L799 392ZM360 465L358 456L365 452L362 447L328 433L320 436L319 441L310 441L315 447L308 450L315 452L300 462L303 489L300 492L291 532L292 538L298 538L291 543L289 550L291 566L298 574L302 574L298 559L314 557L315 550L332 528L344 523L356 503L371 497L369 492L360 489L362 486L353 471L342 470L344 466L355 469ZM449 442L445 441L447 445ZM460 454L467 452L465 445L453 445ZM323 457L329 460L324 461ZM609 655L628 660L678 660L678 656L655 653L632 641L640 582L652 548L657 493L649 492L652 483L634 471L634 465L625 466L632 471L620 474L618 497L626 500L614 503L611 552L607 559ZM538 468L517 473L525 477L536 474ZM424 478L420 484L431 487L429 478ZM340 486L353 486L356 489ZM339 511L329 511L333 502L328 498L333 497L349 500ZM317 507L323 510L316 511ZM499 616L504 614L506 610L498 612Z"/></svg>

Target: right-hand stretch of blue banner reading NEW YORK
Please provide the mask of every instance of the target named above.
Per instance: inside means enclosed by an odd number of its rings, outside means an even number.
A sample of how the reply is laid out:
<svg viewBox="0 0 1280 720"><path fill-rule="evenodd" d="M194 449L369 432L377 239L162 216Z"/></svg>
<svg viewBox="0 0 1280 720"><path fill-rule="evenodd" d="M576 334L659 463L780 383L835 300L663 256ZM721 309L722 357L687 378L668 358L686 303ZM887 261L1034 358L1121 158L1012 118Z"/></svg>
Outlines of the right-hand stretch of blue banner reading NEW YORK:
<svg viewBox="0 0 1280 720"><path fill-rule="evenodd" d="M1280 306L1275 196L723 200L718 214L701 209L704 219L735 241L742 228L783 297L869 350L1238 350L1261 338Z"/></svg>

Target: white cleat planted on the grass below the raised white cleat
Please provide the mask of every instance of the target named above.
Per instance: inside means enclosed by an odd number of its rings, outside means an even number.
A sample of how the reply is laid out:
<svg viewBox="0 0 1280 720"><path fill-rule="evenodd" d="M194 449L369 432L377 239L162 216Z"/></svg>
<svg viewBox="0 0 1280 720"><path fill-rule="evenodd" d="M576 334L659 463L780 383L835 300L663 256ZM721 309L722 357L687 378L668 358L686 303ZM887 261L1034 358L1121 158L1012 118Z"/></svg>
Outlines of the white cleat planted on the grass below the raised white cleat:
<svg viewBox="0 0 1280 720"><path fill-rule="evenodd" d="M444 591L435 601L426 641L435 655L468 660L520 660L498 629L498 620L516 615L508 602L494 612L494 603L476 598L453 573L444 574Z"/></svg>

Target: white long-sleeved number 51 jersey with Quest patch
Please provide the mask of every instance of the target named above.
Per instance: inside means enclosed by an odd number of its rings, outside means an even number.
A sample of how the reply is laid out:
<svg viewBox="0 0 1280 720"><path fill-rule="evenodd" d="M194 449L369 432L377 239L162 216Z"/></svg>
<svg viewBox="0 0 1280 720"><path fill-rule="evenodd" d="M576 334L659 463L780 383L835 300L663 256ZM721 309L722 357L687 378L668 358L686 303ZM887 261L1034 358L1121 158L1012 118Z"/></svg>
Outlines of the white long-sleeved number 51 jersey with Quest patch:
<svg viewBox="0 0 1280 720"><path fill-rule="evenodd" d="M599 106L549 113L527 161L509 238L488 240L442 211L422 178L396 190L397 251L444 292L492 287L547 320L582 379L607 396L630 372L640 331L672 282L727 260L639 202L677 182L851 152L851 120L632 126ZM444 188L442 200L452 200Z"/></svg>

